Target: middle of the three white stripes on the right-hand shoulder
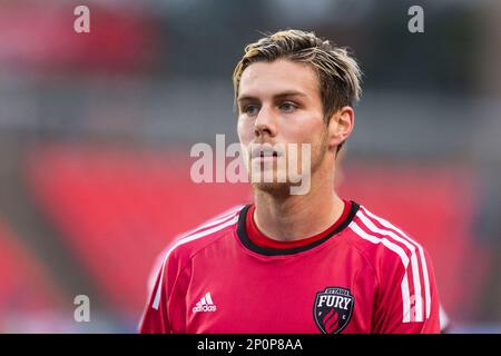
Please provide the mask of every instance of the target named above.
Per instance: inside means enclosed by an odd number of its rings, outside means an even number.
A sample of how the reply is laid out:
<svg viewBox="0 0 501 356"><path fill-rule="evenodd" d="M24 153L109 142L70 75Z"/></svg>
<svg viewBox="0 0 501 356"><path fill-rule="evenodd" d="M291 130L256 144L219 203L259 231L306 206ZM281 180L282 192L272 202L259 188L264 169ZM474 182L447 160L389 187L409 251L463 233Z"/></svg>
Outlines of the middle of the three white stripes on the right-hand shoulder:
<svg viewBox="0 0 501 356"><path fill-rule="evenodd" d="M418 264L418 256L415 254L415 247L407 240L403 239L402 237L397 236L395 233L386 229L381 229L377 226L374 225L374 222L371 221L370 218L367 218L363 210L360 209L356 212L356 216L362 220L362 224L365 225L365 227L371 230L372 233L380 234L387 236L401 244L403 244L410 251L411 251L411 267L412 267L412 279L414 283L414 295L415 295L415 322L423 322L423 298L421 294L421 278L420 278L420 268Z"/></svg>

